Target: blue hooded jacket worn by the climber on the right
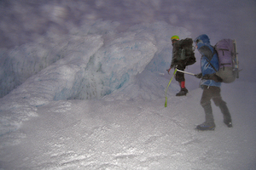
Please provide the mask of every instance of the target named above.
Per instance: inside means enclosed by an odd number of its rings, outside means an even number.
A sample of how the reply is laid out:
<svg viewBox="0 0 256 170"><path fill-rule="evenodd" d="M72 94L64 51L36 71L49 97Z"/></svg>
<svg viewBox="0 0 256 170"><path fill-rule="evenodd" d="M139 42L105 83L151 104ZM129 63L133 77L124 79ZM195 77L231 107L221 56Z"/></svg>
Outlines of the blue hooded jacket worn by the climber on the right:
<svg viewBox="0 0 256 170"><path fill-rule="evenodd" d="M216 73L216 71L218 71L218 55L211 46L209 37L207 37L206 34L202 34L201 36L196 37L194 42L197 44L197 49L201 54L202 77ZM209 64L209 62L211 64ZM201 85L220 87L221 82L215 82L213 80L206 80L202 78Z"/></svg>

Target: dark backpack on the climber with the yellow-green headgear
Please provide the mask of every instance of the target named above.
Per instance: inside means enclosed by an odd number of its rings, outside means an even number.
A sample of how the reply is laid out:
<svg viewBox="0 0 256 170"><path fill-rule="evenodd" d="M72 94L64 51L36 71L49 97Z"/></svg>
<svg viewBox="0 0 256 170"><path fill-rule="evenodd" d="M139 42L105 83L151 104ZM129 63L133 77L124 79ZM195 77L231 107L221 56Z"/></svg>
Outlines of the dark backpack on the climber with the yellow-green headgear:
<svg viewBox="0 0 256 170"><path fill-rule="evenodd" d="M179 48L177 60L182 60L184 65L193 65L196 60L192 38L182 39L176 43Z"/></svg>

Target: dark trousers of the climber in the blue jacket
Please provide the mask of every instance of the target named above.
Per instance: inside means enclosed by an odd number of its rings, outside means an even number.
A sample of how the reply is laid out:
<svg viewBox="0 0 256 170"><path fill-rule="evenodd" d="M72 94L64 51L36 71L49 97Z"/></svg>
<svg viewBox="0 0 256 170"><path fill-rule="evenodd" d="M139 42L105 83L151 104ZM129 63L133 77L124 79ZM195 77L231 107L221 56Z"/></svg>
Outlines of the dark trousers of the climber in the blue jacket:
<svg viewBox="0 0 256 170"><path fill-rule="evenodd" d="M206 122L214 123L213 115L212 115L212 105L211 99L214 104L220 108L224 116L224 121L231 122L230 111L226 105L226 102L221 98L220 88L215 86L203 86L203 93L201 96L201 106L203 107L206 114Z"/></svg>

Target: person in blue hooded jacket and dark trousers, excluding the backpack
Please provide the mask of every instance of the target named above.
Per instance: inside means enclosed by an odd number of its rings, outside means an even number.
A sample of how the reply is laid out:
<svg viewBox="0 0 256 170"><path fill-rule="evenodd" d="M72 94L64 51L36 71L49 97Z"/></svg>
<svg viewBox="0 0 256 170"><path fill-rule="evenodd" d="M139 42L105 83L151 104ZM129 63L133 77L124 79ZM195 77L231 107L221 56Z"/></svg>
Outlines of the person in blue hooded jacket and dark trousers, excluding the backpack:
<svg viewBox="0 0 256 170"><path fill-rule="evenodd" d="M197 74L196 77L201 78L201 88L203 89L201 106L203 107L206 116L206 121L196 128L198 130L215 129L211 99L223 113L224 123L227 127L232 127L230 111L220 94L222 79L215 74L216 71L218 71L218 54L210 44L210 39L206 34L196 37L194 42L201 54L201 73Z"/></svg>

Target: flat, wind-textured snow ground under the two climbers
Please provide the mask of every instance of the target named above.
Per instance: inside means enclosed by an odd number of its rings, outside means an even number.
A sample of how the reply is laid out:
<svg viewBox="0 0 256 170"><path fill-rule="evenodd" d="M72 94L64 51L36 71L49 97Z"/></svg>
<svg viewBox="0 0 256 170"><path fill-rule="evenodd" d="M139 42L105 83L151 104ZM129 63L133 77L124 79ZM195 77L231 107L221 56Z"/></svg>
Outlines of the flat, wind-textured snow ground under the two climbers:
<svg viewBox="0 0 256 170"><path fill-rule="evenodd" d="M38 107L37 116L19 129L1 136L0 165L3 169L254 169L252 87L234 82L222 88L234 127L226 127L213 107L217 125L213 132L194 129L204 121L200 88L181 98L169 93L166 108L164 97L51 101ZM144 88L157 90L143 84L139 91ZM237 92L239 88L248 93Z"/></svg>

